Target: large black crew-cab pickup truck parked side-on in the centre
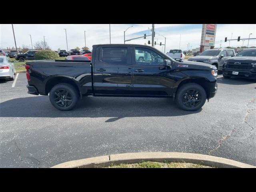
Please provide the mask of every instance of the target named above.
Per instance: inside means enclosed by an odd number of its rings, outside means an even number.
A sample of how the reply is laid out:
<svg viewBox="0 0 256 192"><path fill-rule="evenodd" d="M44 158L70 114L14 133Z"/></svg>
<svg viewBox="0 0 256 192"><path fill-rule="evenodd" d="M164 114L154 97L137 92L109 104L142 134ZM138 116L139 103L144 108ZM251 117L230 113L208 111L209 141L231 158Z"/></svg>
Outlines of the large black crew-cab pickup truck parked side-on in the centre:
<svg viewBox="0 0 256 192"><path fill-rule="evenodd" d="M144 54L136 60L136 52ZM82 96L173 97L183 110L198 110L217 92L217 69L177 62L157 49L136 44L94 45L91 61L26 62L28 93L48 95L59 110Z"/></svg>

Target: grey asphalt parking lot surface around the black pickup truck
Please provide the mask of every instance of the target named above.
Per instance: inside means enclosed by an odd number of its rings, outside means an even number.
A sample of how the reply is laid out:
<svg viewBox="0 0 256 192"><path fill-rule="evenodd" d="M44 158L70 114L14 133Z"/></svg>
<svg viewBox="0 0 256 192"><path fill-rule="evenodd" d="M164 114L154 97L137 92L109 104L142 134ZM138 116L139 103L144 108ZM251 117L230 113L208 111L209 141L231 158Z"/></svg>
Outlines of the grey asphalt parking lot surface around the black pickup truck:
<svg viewBox="0 0 256 192"><path fill-rule="evenodd" d="M256 84L218 76L218 92L187 112L171 98L85 97L72 111L27 94L26 75L0 81L0 167L46 168L125 152L210 154L256 165Z"/></svg>

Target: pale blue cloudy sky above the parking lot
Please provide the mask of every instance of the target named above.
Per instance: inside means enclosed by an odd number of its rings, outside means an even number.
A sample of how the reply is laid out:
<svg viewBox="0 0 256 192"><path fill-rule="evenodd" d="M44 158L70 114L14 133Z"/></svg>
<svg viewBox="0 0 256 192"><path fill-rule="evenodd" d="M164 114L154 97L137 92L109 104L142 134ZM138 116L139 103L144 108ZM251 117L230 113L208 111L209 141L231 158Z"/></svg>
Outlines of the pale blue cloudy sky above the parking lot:
<svg viewBox="0 0 256 192"><path fill-rule="evenodd" d="M52 50L67 49L66 34L68 39L68 49L74 49L77 46L82 48L85 46L84 31L86 31L86 46L92 50L94 44L109 44L110 33L111 43L124 43L124 30L129 28L126 33L126 39L136 38L148 35L152 24L111 24L109 32L109 24L14 24L14 32L17 47L23 45L31 48L30 36L32 37L32 44L44 40L48 43ZM187 45L190 43L192 49L200 47L200 40L202 34L202 24L155 24L155 41L164 44L166 37L166 52L170 49L187 50ZM232 34L233 33L233 34ZM228 39L237 39L238 36L242 38L256 38L256 24L217 24L215 48L229 46L229 42L224 42L225 37ZM160 35L159 35L160 34ZM131 40L126 44L148 44L148 40L152 42L152 37L146 39L140 38ZM240 42L230 41L230 46L242 46ZM248 40L244 41L244 46L247 46ZM249 47L256 46L256 40L249 41ZM11 24L0 24L0 48L15 47L14 36ZM156 45L160 51L164 52L164 46Z"/></svg>

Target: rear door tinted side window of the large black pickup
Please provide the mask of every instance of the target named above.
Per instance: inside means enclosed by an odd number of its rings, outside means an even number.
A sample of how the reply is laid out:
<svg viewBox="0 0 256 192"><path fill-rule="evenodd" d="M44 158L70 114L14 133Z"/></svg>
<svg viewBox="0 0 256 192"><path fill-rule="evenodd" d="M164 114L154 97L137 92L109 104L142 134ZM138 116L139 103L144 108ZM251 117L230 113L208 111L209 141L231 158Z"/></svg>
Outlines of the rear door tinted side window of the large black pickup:
<svg viewBox="0 0 256 192"><path fill-rule="evenodd" d="M101 60L108 64L127 64L127 47L102 47Z"/></svg>

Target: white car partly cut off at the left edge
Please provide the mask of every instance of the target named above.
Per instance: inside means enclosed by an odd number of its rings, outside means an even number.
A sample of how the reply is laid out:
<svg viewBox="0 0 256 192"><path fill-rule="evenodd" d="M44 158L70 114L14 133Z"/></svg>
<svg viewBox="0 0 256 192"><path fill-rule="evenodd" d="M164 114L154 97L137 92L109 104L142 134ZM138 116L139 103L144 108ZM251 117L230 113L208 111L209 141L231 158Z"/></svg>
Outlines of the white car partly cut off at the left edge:
<svg viewBox="0 0 256 192"><path fill-rule="evenodd" d="M6 56L0 56L0 79L14 80L16 74L14 64Z"/></svg>

